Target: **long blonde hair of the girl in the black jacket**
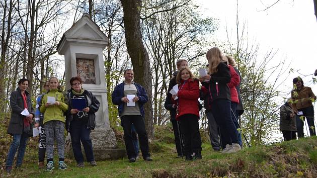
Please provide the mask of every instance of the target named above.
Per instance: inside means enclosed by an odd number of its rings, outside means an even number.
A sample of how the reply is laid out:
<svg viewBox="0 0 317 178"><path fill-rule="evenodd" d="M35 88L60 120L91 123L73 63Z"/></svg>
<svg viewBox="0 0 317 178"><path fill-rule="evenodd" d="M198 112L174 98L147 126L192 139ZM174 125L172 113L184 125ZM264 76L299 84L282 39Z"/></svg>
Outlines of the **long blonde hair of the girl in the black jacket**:
<svg viewBox="0 0 317 178"><path fill-rule="evenodd" d="M226 61L218 47L209 49L206 53L206 57L209 63L210 74L216 73L219 63Z"/></svg>

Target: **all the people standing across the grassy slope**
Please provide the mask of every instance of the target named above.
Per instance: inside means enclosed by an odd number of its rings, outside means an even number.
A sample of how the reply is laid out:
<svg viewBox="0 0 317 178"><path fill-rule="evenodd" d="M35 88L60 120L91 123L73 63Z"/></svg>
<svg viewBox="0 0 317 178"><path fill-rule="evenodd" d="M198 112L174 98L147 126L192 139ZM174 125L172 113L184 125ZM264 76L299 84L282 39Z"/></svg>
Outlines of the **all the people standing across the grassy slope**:
<svg viewBox="0 0 317 178"><path fill-rule="evenodd" d="M169 83L169 91L175 86L177 93L168 93L165 108L170 111L175 144L178 157L185 160L201 159L201 136L199 132L199 111L202 106L198 99L204 100L205 114L209 123L210 140L215 151L232 153L241 150L242 137L238 123L243 113L240 96L241 76L234 59L224 56L220 49L213 47L206 53L208 73L195 77L186 59L177 61L177 71ZM121 126L124 131L124 141L130 162L138 157L138 141L142 157L152 161L149 153L148 138L145 130L144 107L148 102L145 89L133 81L132 69L124 71L125 80L118 84L112 93L112 102L118 105ZM74 157L78 167L84 167L84 157L81 149L83 143L87 161L92 166L97 163L93 154L90 132L96 126L95 113L100 103L89 91L82 88L82 79L78 76L70 79L71 88L66 92L60 90L59 81L51 77L45 82L45 92L37 97L36 111L32 107L31 96L27 92L29 80L22 78L18 88L11 93L10 106L12 110L8 133L13 136L6 162L6 171L12 171L14 156L18 150L16 168L22 165L26 144L32 136L33 127L41 128L39 137L39 167L44 166L45 152L47 154L46 170L54 169L53 148L57 142L58 167L66 169L64 163L64 130L70 133ZM199 82L201 88L199 88ZM303 117L307 119L310 135L315 135L314 113L312 102L316 97L310 87L303 85L300 77L293 79L294 90L291 100L281 107L280 130L285 140L303 137ZM49 100L55 99L54 103ZM78 110L72 105L72 99L85 99L86 107ZM24 110L30 114L23 115ZM300 117L300 116L303 117ZM33 126L33 118L35 125ZM137 134L137 136L136 136Z"/></svg>

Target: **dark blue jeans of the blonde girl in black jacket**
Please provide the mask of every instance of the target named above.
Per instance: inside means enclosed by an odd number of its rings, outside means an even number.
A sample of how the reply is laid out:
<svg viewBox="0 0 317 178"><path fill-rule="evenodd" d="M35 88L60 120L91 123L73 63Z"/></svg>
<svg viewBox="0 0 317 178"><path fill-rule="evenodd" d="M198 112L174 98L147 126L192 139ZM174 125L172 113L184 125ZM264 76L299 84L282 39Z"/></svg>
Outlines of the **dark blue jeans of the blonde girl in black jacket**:
<svg viewBox="0 0 317 178"><path fill-rule="evenodd" d="M211 104L212 115L220 128L219 130L222 149L225 148L226 144L239 144L236 128L231 119L230 103L230 100L218 99L213 101Z"/></svg>

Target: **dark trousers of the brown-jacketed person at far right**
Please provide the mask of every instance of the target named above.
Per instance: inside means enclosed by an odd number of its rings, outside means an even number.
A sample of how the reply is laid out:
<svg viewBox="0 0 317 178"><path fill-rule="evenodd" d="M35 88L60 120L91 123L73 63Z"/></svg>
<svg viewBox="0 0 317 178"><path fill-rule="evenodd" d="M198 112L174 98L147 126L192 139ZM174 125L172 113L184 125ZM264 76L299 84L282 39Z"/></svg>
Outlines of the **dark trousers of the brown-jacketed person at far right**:
<svg viewBox="0 0 317 178"><path fill-rule="evenodd" d="M303 112L303 116L307 119L308 129L310 136L316 135L315 125L314 125L314 111L313 107L307 107L298 109L298 111ZM297 136L298 138L304 137L304 122L299 119L299 115L296 114L296 128L297 128Z"/></svg>

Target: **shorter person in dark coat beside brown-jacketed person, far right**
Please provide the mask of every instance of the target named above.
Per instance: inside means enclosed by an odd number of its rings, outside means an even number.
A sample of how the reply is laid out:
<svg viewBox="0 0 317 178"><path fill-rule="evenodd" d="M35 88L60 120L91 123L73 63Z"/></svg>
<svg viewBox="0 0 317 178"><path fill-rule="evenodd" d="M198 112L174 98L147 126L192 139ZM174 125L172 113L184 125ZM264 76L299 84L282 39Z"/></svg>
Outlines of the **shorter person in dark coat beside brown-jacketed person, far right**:
<svg viewBox="0 0 317 178"><path fill-rule="evenodd" d="M288 102L280 108L280 131L284 141L296 140L296 117Z"/></svg>

